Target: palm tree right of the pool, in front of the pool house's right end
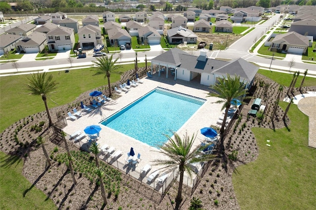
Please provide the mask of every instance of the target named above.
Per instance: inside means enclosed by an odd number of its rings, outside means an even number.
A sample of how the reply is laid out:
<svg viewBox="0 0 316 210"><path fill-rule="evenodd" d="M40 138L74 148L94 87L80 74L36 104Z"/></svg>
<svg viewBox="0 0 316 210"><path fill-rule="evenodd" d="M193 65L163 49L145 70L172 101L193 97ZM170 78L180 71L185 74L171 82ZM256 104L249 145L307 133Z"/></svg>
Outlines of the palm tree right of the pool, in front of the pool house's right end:
<svg viewBox="0 0 316 210"><path fill-rule="evenodd" d="M228 110L231 107L231 101L237 98L247 99L249 97L245 97L248 93L247 89L245 89L244 82L240 82L240 77L235 75L235 77L231 77L227 74L227 79L223 76L223 78L218 78L218 83L216 85L211 85L211 89L214 90L213 93L209 93L208 96L218 97L217 104L224 103L222 109L225 109L225 115L223 119L223 124L220 130L221 137L224 136L225 131L225 122L228 115ZM242 101L242 100L240 100Z"/></svg>

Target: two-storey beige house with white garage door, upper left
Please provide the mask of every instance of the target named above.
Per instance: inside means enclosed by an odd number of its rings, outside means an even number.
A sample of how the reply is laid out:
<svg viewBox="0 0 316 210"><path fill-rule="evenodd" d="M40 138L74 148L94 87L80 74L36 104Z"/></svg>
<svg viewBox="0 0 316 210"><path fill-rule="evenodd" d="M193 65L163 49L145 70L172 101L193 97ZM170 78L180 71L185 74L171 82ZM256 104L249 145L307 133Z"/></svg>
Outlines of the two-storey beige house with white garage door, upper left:
<svg viewBox="0 0 316 210"><path fill-rule="evenodd" d="M47 45L50 51L70 50L75 44L74 29L59 26L46 34Z"/></svg>

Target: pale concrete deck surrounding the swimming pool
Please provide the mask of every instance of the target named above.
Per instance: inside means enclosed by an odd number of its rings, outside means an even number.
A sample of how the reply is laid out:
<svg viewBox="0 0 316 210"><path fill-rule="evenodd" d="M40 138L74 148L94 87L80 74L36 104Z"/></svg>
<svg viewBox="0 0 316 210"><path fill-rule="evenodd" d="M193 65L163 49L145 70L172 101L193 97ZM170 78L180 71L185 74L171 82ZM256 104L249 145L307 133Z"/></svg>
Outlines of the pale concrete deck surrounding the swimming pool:
<svg viewBox="0 0 316 210"><path fill-rule="evenodd" d="M135 140L131 137L128 137L124 134L121 134L111 128L108 128L100 124L100 122L103 119L114 114L126 105L129 105L130 103L147 94L156 87L162 87L169 90L195 96L201 99L205 99L206 102L177 131L177 134L179 134L180 137L183 137L183 135L185 135L186 132L190 137L193 134L196 134L197 138L194 142L194 147L197 147L204 139L204 136L200 134L199 130L203 127L216 125L216 121L222 114L222 104L213 103L216 102L218 98L207 97L207 93L209 93L210 89L207 86L198 84L197 82L190 83L182 80L174 81L172 79L158 77L155 74L153 78L146 77L142 78L142 80L144 81L144 83L139 83L137 87L131 87L131 89L128 92L122 92L121 94L119 94L121 95L121 97L119 97L118 99L112 100L111 102L106 102L106 104L92 110L91 112L86 113L77 120L71 121L67 119L68 125L63 129L63 131L70 135L78 130L83 132L86 126L100 125L102 130L100 132L100 137L97 140L97 143L100 145L100 147L104 144L108 144L109 146L114 146L116 148L116 151L121 150L123 152L123 155L119 156L116 160L123 164L125 164L127 153L129 152L130 147L133 147L136 156L138 153L141 154L141 161L139 162L138 166L133 170L139 172L146 164L150 164L152 166L152 169L147 174L150 175L152 172L158 170L161 167L154 166L154 163L152 161L154 159L164 159L164 155L159 153L158 149L155 147L149 146L146 143ZM153 109L155 109L155 107L148 107L148 110L144 111L152 111ZM83 111L81 110L81 112ZM137 117L137 115L138 113L135 113L135 118ZM150 136L148 138L150 138ZM80 140L80 145L87 145L87 138ZM103 157L104 156L101 156L101 158ZM108 158L108 161L110 160L111 159ZM126 168L126 173L127 170L129 171L130 169Z"/></svg>

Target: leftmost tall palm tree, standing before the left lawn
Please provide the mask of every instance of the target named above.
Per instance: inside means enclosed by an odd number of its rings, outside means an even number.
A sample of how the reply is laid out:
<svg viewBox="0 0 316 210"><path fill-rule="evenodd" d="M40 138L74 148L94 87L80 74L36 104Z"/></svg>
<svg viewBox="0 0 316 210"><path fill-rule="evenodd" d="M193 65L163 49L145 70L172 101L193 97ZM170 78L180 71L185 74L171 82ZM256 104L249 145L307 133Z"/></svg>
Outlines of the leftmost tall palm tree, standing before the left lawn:
<svg viewBox="0 0 316 210"><path fill-rule="evenodd" d="M37 96L41 96L41 99L44 102L45 108L46 108L46 112L47 112L47 117L48 117L48 127L50 127L52 125L52 121L51 121L51 117L49 114L49 109L47 106L47 95L50 93L54 93L56 90L56 85L58 83L56 83L55 81L53 81L53 75L49 75L47 78L47 72L44 73L33 73L31 74L32 78L29 79L29 84L26 84L26 86L28 87L27 90L31 91L30 95L37 95Z"/></svg>

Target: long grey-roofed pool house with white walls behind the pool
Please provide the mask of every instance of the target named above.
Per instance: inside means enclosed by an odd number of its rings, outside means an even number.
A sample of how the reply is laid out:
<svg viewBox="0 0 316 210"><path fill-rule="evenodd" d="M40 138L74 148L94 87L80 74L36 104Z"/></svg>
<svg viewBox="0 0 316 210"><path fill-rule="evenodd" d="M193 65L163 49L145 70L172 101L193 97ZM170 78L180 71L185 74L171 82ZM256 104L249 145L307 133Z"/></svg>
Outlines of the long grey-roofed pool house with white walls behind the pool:
<svg viewBox="0 0 316 210"><path fill-rule="evenodd" d="M245 88L250 89L254 77L259 68L242 58L232 61L221 61L210 59L203 49L199 56L190 55L178 48L172 48L161 55L153 58L152 72L154 65L158 71L158 76L161 76L160 70L162 67L166 72L163 74L166 78L173 77L174 80L181 79L185 81L199 79L200 84L210 86L215 85L217 78L238 75L240 82L245 83Z"/></svg>

